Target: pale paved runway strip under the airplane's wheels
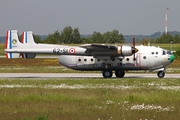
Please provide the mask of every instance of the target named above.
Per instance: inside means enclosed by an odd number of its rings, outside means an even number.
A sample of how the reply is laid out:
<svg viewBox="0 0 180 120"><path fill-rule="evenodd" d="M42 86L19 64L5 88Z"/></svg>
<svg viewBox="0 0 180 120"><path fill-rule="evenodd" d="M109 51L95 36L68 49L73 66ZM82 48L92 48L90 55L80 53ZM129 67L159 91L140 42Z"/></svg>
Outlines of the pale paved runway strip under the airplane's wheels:
<svg viewBox="0 0 180 120"><path fill-rule="evenodd" d="M113 75L115 78L115 75ZM157 78L156 73L125 74L125 78ZM100 73L0 73L0 78L103 78ZM180 74L166 74L164 78L180 78ZM123 79L123 78L119 78Z"/></svg>

